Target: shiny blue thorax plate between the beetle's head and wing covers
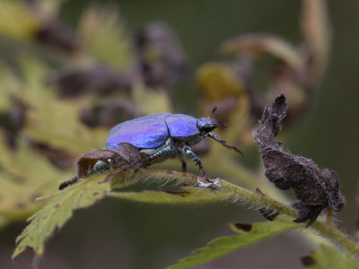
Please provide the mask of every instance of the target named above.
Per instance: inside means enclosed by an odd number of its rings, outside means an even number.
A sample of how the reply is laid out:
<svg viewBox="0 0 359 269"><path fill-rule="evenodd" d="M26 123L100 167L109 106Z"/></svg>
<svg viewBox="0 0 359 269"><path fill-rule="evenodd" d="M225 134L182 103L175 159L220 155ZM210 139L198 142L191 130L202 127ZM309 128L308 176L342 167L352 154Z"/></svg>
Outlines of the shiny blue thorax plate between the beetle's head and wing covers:
<svg viewBox="0 0 359 269"><path fill-rule="evenodd" d="M189 138L192 135L199 134L197 128L197 118L184 114L173 114L165 118L171 137L177 139Z"/></svg>

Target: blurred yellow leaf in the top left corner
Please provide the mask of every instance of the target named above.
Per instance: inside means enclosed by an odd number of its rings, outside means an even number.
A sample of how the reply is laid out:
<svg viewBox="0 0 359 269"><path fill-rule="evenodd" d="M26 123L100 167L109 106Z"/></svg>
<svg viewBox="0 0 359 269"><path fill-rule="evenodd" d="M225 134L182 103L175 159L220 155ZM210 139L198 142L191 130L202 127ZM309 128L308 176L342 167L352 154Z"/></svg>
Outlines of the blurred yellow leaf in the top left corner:
<svg viewBox="0 0 359 269"><path fill-rule="evenodd" d="M39 29L39 20L23 1L0 2L0 33L13 39L30 39Z"/></svg>

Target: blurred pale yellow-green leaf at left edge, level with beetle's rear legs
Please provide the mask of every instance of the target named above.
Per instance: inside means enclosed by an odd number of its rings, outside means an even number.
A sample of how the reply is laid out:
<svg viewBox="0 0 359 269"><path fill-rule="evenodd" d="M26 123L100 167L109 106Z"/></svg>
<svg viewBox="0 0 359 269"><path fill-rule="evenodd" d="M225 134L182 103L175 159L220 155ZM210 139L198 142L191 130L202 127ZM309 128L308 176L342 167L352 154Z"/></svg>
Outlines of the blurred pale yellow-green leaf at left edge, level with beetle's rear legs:
<svg viewBox="0 0 359 269"><path fill-rule="evenodd" d="M70 177L59 170L24 141L17 150L0 143L0 216L22 220L39 208L34 203L39 195L57 189L58 181Z"/></svg>

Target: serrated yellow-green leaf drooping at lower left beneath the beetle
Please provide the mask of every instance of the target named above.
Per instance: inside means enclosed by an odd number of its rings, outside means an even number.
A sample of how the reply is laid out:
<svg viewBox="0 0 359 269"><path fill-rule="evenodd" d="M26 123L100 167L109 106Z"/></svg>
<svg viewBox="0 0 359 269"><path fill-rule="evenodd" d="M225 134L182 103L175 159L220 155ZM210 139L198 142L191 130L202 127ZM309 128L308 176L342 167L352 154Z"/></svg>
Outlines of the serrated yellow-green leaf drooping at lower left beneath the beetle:
<svg viewBox="0 0 359 269"><path fill-rule="evenodd" d="M48 204L45 204L37 213L31 216L29 219L29 221L31 221L30 224L16 239L17 247L14 250L13 258L20 255L27 247L34 249L36 257L41 256L44 251L46 240L57 228L61 228L66 221L71 218L74 210L94 204L108 195L111 189L127 187L135 184L139 180L146 181L149 178L163 180L166 175L170 176L168 180L176 180L176 178L180 178L179 176L183 174L160 170L152 171L149 169L141 169L136 173L123 172L120 170L109 171L107 173L92 176L91 178L81 179L80 182L73 186L66 187L53 195L40 198L41 200L49 199ZM190 180L188 183L193 183L192 180L196 180L196 177L193 176L189 178ZM211 200L208 197L211 195L211 191L206 189L202 191L198 190L199 189L194 187L186 187L186 191L193 195L188 195L188 197L193 197L189 198L194 201L192 203L196 203L197 200L199 200L198 198L206 199L207 201ZM115 194L111 193L110 195ZM218 192L217 195L213 195L216 199L223 199L223 194L221 192ZM148 196L146 199L148 199ZM212 198L212 200L214 199Z"/></svg>

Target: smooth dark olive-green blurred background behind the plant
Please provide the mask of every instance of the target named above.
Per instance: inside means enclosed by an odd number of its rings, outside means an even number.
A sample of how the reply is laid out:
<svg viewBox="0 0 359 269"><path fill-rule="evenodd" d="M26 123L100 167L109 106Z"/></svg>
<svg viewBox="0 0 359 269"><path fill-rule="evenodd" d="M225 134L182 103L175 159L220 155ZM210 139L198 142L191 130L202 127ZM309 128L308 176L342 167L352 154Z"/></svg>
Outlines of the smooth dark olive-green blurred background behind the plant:
<svg viewBox="0 0 359 269"><path fill-rule="evenodd" d="M67 1L60 18L74 26L83 8L92 2ZM99 3L118 4L132 32L147 22L167 22L178 35L193 68L218 59L218 47L223 39L243 33L273 33L293 44L301 39L298 27L301 1ZM345 210L337 216L338 226L348 233L356 229L355 195L359 176L358 9L355 0L328 1L333 29L328 71L307 116L285 138L285 147L294 154L337 170L347 201ZM179 104L175 106L193 111L194 82L178 88L180 93L175 96ZM39 268L162 268L210 239L230 234L224 223L256 220L261 220L257 212L232 204L175 207L108 198L88 210L74 213L74 218L50 240ZM16 258L14 264L10 259L14 239L23 227L24 223L18 222L0 231L0 268L28 268L31 263L30 251ZM302 268L299 258L309 249L306 242L290 233L198 268Z"/></svg>

